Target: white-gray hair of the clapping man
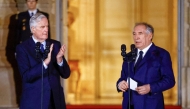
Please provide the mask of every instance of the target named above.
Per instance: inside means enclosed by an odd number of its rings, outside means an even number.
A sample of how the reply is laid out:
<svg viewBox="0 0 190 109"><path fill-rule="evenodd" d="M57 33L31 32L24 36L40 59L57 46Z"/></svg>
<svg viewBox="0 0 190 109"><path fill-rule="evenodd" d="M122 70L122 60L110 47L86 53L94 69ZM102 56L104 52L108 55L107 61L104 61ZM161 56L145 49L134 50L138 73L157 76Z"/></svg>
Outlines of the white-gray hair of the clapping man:
<svg viewBox="0 0 190 109"><path fill-rule="evenodd" d="M36 27L38 25L38 22L40 22L43 18L47 18L42 13L36 13L30 18L30 30L32 27ZM32 31L32 30L31 30Z"/></svg>

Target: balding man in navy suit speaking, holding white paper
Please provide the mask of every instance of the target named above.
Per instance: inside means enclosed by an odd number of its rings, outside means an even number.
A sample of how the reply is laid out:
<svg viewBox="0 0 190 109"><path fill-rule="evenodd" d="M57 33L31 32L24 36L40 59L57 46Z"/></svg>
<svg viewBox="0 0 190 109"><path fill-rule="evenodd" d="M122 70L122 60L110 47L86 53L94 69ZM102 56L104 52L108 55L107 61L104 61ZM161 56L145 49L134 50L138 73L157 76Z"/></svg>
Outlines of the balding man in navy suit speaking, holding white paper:
<svg viewBox="0 0 190 109"><path fill-rule="evenodd" d="M134 27L137 57L129 66L130 78L137 82L137 87L128 89L128 61L124 61L121 77L116 83L117 90L123 92L123 109L164 109L162 92L175 85L170 54L152 42L153 34L154 28L150 24L142 22ZM141 61L137 62L139 59Z"/></svg>

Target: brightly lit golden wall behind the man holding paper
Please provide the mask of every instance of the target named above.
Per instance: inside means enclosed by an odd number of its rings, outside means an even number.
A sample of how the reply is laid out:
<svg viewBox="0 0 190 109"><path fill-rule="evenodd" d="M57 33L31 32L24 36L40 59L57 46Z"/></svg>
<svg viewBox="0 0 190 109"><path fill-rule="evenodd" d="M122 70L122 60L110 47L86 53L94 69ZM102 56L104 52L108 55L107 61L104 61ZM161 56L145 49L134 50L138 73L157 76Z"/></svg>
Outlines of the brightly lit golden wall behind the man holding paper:
<svg viewBox="0 0 190 109"><path fill-rule="evenodd" d="M68 95L77 96L75 89L79 84L79 102L95 97L112 98L117 101L111 103L120 103L121 93L115 89L122 64L120 46L124 43L130 48L133 43L132 28L138 21L151 23L155 27L153 42L170 52L178 81L177 1L69 1L69 59L79 60L80 74L76 71L71 74ZM80 81L77 83L78 76ZM174 88L164 92L166 104L177 104L177 85L178 82Z"/></svg>

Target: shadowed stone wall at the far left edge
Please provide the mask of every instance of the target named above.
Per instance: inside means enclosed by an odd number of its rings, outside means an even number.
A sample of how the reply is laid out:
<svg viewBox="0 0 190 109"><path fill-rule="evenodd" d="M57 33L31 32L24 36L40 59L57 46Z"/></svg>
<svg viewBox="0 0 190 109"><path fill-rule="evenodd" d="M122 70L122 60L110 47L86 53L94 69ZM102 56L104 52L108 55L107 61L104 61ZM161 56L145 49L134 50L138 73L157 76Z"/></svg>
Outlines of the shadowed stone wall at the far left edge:
<svg viewBox="0 0 190 109"><path fill-rule="evenodd" d="M16 62L12 43L17 8L13 0L1 0L0 8L2 13L0 15L0 106L14 107L17 105L15 82L19 82L15 81L19 73L15 72L16 67L13 68Z"/></svg>

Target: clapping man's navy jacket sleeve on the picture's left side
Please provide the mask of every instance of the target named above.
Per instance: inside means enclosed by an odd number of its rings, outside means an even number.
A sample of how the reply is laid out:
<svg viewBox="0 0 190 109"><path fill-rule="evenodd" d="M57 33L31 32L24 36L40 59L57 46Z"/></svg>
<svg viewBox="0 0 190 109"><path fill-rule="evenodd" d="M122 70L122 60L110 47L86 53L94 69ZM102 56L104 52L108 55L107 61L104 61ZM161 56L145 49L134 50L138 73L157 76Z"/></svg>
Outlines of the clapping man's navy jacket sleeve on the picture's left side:
<svg viewBox="0 0 190 109"><path fill-rule="evenodd" d="M16 48L16 59L22 81L34 82L41 78L42 72L47 75L42 61L35 61L35 57L32 57L21 45ZM33 61L33 64L30 61Z"/></svg>

